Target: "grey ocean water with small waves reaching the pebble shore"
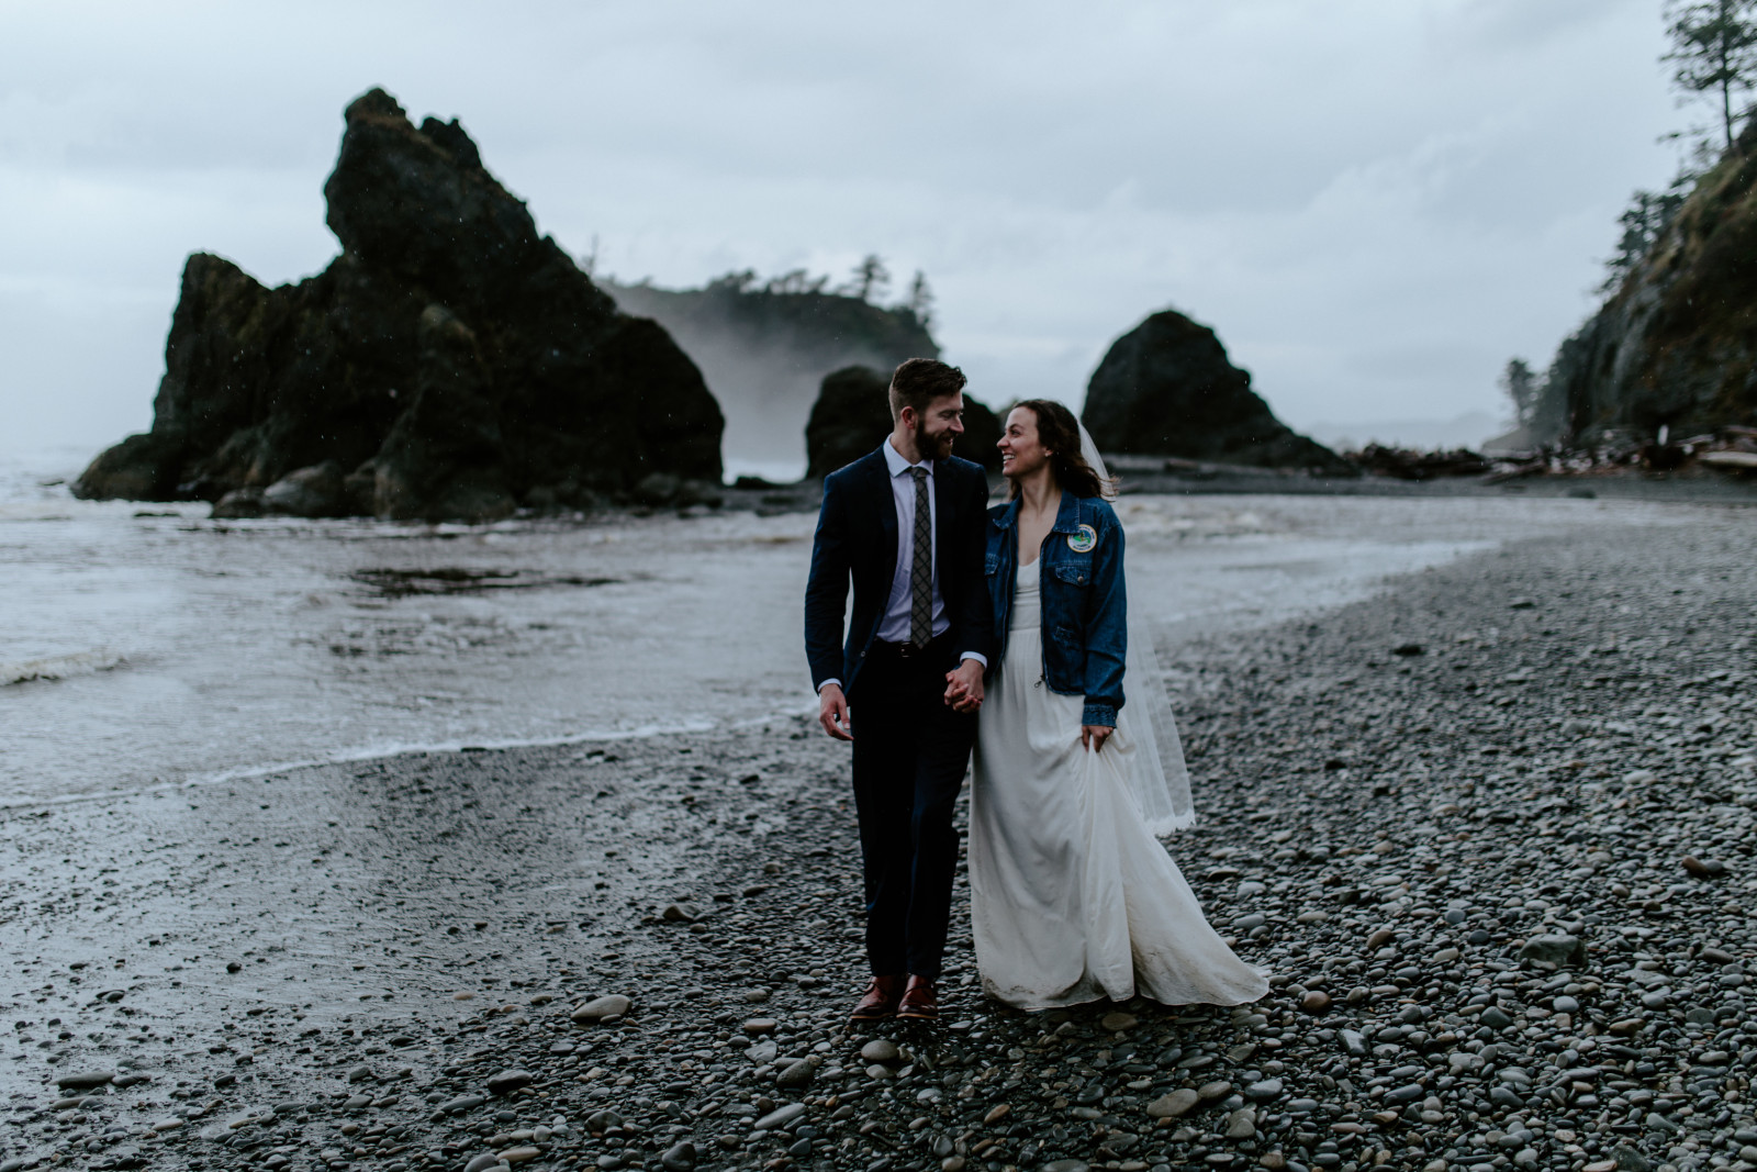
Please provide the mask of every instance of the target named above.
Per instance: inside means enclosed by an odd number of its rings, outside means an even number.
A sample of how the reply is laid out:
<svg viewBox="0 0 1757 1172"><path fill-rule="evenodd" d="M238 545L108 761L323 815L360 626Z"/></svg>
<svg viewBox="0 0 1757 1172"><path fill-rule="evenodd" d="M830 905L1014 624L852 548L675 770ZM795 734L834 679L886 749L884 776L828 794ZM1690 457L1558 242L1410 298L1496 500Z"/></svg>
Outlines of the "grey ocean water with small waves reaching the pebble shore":
<svg viewBox="0 0 1757 1172"><path fill-rule="evenodd" d="M815 710L801 648L815 517L214 522L206 504L72 499L84 455L0 455L0 805ZM1504 539L1680 508L1121 504L1161 647L1249 638Z"/></svg>

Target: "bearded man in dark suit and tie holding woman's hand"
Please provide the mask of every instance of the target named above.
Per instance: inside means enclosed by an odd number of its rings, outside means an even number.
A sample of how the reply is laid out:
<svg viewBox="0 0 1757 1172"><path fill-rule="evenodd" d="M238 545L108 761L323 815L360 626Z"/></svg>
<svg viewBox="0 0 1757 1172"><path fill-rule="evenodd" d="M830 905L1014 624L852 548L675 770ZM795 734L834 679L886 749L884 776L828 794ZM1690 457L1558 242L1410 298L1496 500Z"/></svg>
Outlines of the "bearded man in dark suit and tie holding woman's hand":
<svg viewBox="0 0 1757 1172"><path fill-rule="evenodd" d="M965 430L963 387L958 367L933 358L896 367L893 430L824 480L812 546L805 652L819 720L854 742L871 965L854 1021L938 1016L958 868L952 808L993 641L982 573L987 476L952 455Z"/></svg>

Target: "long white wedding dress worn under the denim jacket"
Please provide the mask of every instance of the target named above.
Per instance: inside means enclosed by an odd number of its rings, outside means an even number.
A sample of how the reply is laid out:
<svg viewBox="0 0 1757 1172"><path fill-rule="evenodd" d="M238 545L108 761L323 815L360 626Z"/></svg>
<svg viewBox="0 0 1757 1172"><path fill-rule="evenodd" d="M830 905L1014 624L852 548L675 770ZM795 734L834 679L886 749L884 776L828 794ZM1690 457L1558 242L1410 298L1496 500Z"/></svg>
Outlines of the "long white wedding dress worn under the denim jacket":
<svg viewBox="0 0 1757 1172"><path fill-rule="evenodd" d="M1242 1005L1269 982L1209 928L1132 796L1130 708L1100 752L1084 698L1042 684L1038 562L1019 568L1000 678L977 724L970 919L982 988L1019 1009L1137 993Z"/></svg>

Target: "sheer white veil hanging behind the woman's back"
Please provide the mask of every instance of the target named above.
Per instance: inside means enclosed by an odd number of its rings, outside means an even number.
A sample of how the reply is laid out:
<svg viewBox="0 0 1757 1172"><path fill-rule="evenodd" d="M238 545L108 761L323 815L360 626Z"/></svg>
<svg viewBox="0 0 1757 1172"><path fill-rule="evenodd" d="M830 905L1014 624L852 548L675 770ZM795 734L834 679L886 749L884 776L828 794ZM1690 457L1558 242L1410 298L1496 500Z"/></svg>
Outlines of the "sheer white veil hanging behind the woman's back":
<svg viewBox="0 0 1757 1172"><path fill-rule="evenodd" d="M1105 485L1114 485L1084 423L1081 423L1081 455ZM1105 501L1116 501L1114 487L1105 492ZM1189 768L1184 764L1184 743L1177 736L1172 701L1165 692L1165 673L1153 648L1153 624L1140 592L1130 589L1126 578L1123 589L1128 594L1130 638L1123 673L1123 694L1128 703L1117 712L1116 734L1133 745L1139 757L1137 768L1124 773L1147 829L1168 835L1197 824L1195 801L1189 798Z"/></svg>

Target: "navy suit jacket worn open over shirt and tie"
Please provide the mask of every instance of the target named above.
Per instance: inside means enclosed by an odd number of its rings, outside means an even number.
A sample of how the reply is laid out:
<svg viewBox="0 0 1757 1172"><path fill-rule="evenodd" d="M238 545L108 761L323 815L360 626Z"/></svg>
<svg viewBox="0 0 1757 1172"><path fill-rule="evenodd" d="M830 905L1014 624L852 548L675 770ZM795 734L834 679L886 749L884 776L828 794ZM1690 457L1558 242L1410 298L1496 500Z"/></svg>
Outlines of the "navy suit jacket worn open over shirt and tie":
<svg viewBox="0 0 1757 1172"><path fill-rule="evenodd" d="M887 441L889 443L889 441ZM994 619L982 573L987 548L987 473L959 457L933 464L935 566L954 652L993 661ZM842 680L854 699L861 661L884 622L896 575L896 497L884 452L873 450L824 478L824 503L805 587L805 657L812 687ZM854 617L843 640L849 583Z"/></svg>

